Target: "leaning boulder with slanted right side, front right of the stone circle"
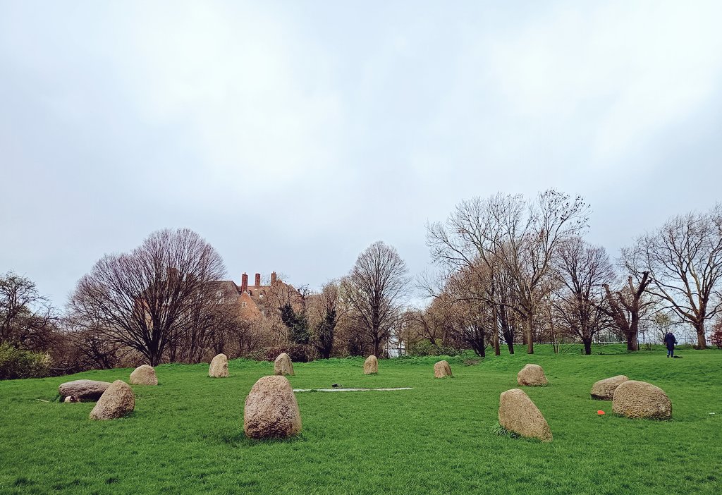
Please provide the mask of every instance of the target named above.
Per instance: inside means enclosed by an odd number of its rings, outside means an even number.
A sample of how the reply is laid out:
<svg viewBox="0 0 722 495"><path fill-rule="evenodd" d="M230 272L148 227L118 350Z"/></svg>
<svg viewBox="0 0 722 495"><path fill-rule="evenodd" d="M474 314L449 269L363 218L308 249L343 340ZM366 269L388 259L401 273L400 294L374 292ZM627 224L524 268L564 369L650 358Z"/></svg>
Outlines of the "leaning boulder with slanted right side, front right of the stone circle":
<svg viewBox="0 0 722 495"><path fill-rule="evenodd" d="M522 437L552 441L552 430L539 408L523 390L513 388L499 397L499 424Z"/></svg>

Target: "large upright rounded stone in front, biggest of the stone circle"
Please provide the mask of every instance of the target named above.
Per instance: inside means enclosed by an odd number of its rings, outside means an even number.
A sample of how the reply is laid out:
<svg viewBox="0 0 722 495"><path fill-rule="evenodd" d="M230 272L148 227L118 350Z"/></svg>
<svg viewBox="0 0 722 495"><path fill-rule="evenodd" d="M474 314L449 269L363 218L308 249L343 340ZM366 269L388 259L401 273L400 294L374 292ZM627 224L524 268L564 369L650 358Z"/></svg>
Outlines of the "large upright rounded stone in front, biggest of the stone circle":
<svg viewBox="0 0 722 495"><path fill-rule="evenodd" d="M250 438L285 438L301 431L301 413L286 377L261 377L245 398L243 431Z"/></svg>

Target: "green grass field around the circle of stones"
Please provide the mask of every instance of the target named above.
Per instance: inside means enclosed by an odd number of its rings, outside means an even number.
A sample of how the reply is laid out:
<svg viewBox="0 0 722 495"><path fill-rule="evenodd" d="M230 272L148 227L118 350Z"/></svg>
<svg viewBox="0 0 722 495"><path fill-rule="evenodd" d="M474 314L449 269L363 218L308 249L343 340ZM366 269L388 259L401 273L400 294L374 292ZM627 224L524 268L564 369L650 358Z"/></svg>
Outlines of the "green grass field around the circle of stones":
<svg viewBox="0 0 722 495"><path fill-rule="evenodd" d="M722 351L678 354L539 346L476 364L448 358L454 377L444 380L433 377L436 357L382 360L375 376L362 359L295 364L295 388L414 390L297 393L303 433L269 442L243 435L243 400L272 363L232 361L231 376L215 380L207 364L162 365L160 384L134 386L135 412L115 421L88 419L93 403L57 402L58 385L127 381L131 369L0 382L0 493L719 494ZM551 443L497 434L499 394L527 362L549 378L526 392ZM673 419L620 418L591 400L592 383L615 374L663 388Z"/></svg>

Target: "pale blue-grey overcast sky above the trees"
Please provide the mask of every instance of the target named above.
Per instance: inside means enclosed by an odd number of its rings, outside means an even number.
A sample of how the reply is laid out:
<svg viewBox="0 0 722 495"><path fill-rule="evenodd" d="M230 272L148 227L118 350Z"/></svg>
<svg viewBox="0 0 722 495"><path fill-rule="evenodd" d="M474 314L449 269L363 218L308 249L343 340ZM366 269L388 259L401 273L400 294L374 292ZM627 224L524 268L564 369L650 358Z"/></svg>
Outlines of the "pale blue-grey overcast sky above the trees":
<svg viewBox="0 0 722 495"><path fill-rule="evenodd" d="M0 0L0 273L58 306L189 227L318 287L497 191L580 194L612 256L722 200L720 1ZM251 275L251 280L252 280Z"/></svg>

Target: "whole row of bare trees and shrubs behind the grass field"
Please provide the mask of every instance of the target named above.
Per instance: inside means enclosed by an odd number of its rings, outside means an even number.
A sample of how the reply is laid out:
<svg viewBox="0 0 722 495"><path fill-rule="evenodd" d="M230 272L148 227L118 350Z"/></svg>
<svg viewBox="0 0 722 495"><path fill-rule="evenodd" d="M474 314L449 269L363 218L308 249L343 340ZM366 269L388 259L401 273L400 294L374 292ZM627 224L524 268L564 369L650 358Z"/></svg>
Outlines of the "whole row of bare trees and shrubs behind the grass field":
<svg viewBox="0 0 722 495"><path fill-rule="evenodd" d="M417 280L393 246L375 242L318 292L271 284L262 317L243 317L222 257L189 229L154 232L129 253L105 255L64 311L29 279L0 277L0 346L50 354L58 372L231 357L295 359L583 344L600 336L639 349L642 328L694 330L722 343L722 206L674 216L612 261L584 239L590 207L547 190L461 201L427 224L435 273ZM424 307L409 296L423 294ZM710 323L716 328L710 330Z"/></svg>

